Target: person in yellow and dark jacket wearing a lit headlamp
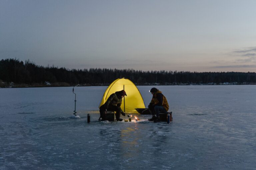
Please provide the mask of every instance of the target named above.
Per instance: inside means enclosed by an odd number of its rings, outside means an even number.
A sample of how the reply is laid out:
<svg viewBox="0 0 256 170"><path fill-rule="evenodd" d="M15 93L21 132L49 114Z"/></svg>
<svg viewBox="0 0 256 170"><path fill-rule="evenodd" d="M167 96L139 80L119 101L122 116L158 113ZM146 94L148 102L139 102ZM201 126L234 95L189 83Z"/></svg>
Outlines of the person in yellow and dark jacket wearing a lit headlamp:
<svg viewBox="0 0 256 170"><path fill-rule="evenodd" d="M148 121L159 122L159 112L167 112L169 105L166 97L157 88L153 87L149 92L151 92L153 97L148 105L152 118L148 119Z"/></svg>

